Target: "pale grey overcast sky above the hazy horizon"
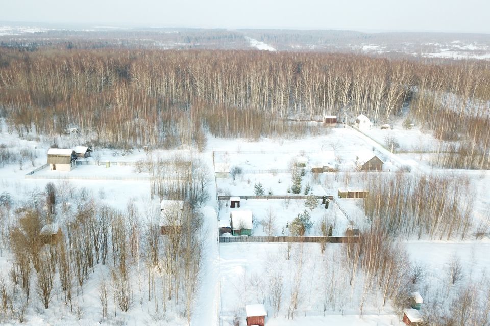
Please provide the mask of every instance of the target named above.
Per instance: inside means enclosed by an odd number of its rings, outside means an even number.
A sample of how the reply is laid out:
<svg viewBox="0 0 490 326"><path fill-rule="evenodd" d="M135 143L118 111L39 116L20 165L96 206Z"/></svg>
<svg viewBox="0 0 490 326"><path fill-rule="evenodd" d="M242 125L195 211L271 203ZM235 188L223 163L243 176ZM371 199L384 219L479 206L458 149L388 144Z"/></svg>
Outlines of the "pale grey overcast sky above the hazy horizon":
<svg viewBox="0 0 490 326"><path fill-rule="evenodd" d="M490 33L490 0L0 0L0 21Z"/></svg>

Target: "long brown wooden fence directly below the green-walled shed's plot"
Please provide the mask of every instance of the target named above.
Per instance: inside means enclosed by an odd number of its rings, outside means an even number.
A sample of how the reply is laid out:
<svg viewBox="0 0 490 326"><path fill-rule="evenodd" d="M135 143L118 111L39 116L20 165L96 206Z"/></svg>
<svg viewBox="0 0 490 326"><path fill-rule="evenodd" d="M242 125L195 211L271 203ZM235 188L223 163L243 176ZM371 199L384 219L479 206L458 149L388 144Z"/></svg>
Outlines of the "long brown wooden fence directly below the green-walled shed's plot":
<svg viewBox="0 0 490 326"><path fill-rule="evenodd" d="M345 243L357 242L357 236L221 236L219 243L237 242L295 242L295 243Z"/></svg>

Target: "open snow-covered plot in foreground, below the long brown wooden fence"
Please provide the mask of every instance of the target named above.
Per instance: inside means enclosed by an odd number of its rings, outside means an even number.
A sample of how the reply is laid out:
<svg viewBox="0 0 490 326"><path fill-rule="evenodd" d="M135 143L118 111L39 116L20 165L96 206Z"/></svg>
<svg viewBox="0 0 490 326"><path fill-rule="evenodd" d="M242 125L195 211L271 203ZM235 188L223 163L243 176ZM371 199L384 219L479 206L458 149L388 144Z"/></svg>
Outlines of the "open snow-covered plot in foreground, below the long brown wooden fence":
<svg viewBox="0 0 490 326"><path fill-rule="evenodd" d="M329 273L343 258L344 244L329 244L324 254L320 245L293 244L287 259L286 243L223 243L221 258L221 302L223 325L233 325L234 316L246 324L243 308L246 304L263 303L267 310L266 325L401 325L399 317L389 307L377 306L375 298L365 303L363 315L358 312L358 293L351 292L344 273L336 273L338 301L324 308L324 293ZM300 276L299 300L294 319L287 318L295 276ZM344 276L342 276L344 275ZM283 284L279 312L274 316L269 289L274 279ZM377 296L376 294L374 296ZM325 309L325 311L324 311ZM325 314L325 315L324 315Z"/></svg>

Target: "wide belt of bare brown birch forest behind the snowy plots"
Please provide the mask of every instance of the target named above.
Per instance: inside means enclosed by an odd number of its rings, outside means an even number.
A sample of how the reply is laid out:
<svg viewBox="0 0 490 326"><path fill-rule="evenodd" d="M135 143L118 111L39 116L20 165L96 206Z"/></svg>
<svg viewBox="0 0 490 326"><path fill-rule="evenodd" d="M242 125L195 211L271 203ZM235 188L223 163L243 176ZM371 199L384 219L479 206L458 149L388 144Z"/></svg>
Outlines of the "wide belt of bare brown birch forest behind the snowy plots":
<svg viewBox="0 0 490 326"><path fill-rule="evenodd" d="M488 162L490 63L242 50L0 49L0 114L19 134L77 127L103 145L291 134L279 117L410 116ZM405 106L404 106L405 105ZM295 127L295 135L308 132ZM166 144L166 145L165 145ZM475 154L478 153L478 154Z"/></svg>

